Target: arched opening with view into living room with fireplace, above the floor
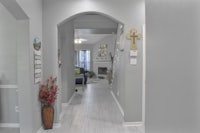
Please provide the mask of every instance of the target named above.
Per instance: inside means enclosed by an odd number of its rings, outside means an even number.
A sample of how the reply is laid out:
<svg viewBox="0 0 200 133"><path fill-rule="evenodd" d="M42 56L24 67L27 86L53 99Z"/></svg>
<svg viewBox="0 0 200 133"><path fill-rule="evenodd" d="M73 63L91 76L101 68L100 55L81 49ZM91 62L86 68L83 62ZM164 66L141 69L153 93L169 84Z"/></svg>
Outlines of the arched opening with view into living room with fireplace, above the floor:
<svg viewBox="0 0 200 133"><path fill-rule="evenodd" d="M115 75L118 56L123 51L119 42L124 24L103 13L84 12L65 19L57 28L61 103L69 103L77 84L82 84L77 83L80 82L79 77L76 78L80 73L75 74L77 68L84 71L84 87L92 80L104 79L112 94L119 95L119 79ZM76 42L78 39L82 39L81 44ZM96 77L90 78L91 73ZM122 110L121 113L124 115Z"/></svg>

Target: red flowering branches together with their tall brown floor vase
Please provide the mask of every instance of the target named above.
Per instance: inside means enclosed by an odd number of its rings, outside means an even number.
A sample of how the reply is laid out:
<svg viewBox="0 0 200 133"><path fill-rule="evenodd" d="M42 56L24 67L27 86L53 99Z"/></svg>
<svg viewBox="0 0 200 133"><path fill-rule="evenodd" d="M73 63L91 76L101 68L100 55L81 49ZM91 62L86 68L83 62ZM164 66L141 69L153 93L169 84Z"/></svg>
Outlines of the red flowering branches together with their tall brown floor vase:
<svg viewBox="0 0 200 133"><path fill-rule="evenodd" d="M54 108L53 105L57 98L58 86L57 78L50 77L46 83L41 84L39 88L39 100L42 105L42 123L44 129L53 128Z"/></svg>

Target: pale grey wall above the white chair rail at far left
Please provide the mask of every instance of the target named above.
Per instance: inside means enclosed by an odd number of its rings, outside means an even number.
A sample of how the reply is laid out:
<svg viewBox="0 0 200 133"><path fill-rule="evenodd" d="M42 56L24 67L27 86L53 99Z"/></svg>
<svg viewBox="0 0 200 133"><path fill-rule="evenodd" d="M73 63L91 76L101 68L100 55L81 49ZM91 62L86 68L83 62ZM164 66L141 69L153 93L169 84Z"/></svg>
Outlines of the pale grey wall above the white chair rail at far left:
<svg viewBox="0 0 200 133"><path fill-rule="evenodd" d="M17 84L17 20L0 4L0 84Z"/></svg>

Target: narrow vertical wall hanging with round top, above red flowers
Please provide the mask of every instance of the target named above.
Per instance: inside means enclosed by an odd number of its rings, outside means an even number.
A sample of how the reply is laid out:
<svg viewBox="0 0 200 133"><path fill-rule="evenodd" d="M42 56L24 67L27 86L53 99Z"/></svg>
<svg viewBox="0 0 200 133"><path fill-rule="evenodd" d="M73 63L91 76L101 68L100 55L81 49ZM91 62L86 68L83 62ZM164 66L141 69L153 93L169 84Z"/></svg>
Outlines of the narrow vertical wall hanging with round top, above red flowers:
<svg viewBox="0 0 200 133"><path fill-rule="evenodd" d="M34 47L34 83L41 82L42 77L42 52L40 38L36 37L33 40Z"/></svg>

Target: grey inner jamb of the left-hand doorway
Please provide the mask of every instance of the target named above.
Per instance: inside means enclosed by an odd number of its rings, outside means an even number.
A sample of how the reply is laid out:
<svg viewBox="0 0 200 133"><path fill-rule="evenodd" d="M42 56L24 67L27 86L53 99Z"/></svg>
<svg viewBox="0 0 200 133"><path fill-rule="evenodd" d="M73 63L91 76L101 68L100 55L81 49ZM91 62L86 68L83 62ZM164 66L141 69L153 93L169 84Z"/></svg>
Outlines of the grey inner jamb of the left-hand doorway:
<svg viewBox="0 0 200 133"><path fill-rule="evenodd" d="M32 132L33 130L33 97L30 80L30 46L27 45L28 43L29 22L20 20L17 22L17 85L19 88L20 133Z"/></svg>

